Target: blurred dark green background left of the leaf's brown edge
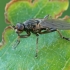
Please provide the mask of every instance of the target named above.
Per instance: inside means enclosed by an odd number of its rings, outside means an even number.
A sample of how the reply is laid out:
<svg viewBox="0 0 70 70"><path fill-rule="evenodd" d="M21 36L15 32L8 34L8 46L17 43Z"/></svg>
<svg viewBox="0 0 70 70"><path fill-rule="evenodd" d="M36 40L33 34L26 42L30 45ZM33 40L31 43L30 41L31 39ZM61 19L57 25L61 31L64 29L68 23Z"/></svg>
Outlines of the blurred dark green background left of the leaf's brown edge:
<svg viewBox="0 0 70 70"><path fill-rule="evenodd" d="M4 31L4 28L7 26L4 19L4 11L5 11L5 5L10 0L0 0L0 41L2 40L2 32Z"/></svg>

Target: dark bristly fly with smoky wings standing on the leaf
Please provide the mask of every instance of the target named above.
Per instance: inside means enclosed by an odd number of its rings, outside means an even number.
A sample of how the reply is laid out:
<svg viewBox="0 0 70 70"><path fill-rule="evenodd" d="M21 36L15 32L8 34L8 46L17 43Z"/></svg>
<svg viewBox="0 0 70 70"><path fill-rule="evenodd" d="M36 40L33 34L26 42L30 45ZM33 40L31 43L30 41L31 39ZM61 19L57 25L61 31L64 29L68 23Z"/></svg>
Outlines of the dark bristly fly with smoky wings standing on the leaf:
<svg viewBox="0 0 70 70"><path fill-rule="evenodd" d="M62 39L70 41L69 38L64 37L59 30L70 30L70 23L64 20L58 19L48 19L49 16L46 16L43 19L30 19L23 23L17 23L16 26L12 26L15 32L18 34L18 39L16 41L16 46L20 43L20 38L27 38L31 33L35 34L37 37L36 40L36 57L38 54L38 37L39 34L51 33L57 31ZM21 35L25 31L26 35Z"/></svg>

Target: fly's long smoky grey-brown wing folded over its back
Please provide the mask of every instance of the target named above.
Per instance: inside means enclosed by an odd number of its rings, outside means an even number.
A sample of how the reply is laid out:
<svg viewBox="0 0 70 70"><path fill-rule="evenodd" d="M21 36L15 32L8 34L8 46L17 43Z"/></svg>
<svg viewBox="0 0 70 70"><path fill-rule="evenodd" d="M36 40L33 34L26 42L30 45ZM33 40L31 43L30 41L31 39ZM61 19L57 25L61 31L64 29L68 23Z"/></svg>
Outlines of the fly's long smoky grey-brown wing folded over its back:
<svg viewBox="0 0 70 70"><path fill-rule="evenodd" d="M47 19L41 21L41 26L59 30L70 30L70 23L64 20Z"/></svg>

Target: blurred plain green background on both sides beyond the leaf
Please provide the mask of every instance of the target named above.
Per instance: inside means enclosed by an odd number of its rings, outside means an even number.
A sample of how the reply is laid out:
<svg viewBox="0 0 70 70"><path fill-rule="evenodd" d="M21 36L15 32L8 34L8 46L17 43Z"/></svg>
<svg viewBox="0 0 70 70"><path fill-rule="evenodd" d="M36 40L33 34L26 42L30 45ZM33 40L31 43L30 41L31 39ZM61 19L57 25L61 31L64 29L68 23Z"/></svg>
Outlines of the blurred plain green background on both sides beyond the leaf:
<svg viewBox="0 0 70 70"><path fill-rule="evenodd" d="M5 23L5 19L4 19L4 11L5 11L5 5L9 2L10 0L0 0L0 41L2 40L2 33L4 31L4 28L7 26L7 24ZM62 17L64 17L65 15L70 16L70 0L69 0L69 7L68 10L65 11L62 14Z"/></svg>

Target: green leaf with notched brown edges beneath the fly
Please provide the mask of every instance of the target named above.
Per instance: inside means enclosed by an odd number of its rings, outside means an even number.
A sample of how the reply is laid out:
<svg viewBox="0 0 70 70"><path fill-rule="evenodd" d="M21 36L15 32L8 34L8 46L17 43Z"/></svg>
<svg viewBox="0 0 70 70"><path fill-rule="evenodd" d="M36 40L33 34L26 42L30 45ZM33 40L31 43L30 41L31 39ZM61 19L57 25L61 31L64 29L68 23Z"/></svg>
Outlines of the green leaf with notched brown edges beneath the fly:
<svg viewBox="0 0 70 70"><path fill-rule="evenodd" d="M15 25L28 19L43 18L47 14L59 16L67 10L68 1L16 0L7 4L5 17ZM70 20L70 19L69 19ZM62 31L69 37L70 31ZM69 70L70 42L59 37L57 32L39 36L38 57L36 53L36 36L21 39L20 44L13 49L17 34L11 26L3 33L3 45L0 47L0 69L2 70Z"/></svg>

